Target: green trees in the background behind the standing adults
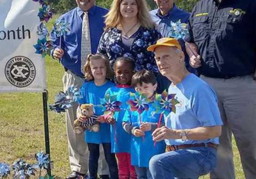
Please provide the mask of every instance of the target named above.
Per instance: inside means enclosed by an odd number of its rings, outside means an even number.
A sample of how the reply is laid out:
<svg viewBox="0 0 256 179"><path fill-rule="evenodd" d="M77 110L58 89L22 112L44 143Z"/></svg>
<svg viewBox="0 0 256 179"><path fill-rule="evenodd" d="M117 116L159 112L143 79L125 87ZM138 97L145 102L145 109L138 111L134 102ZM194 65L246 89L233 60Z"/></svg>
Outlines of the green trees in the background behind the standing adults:
<svg viewBox="0 0 256 179"><path fill-rule="evenodd" d="M113 0L96 0L96 4L107 9L110 8ZM175 0L177 6L185 11L191 12L196 2L199 0ZM68 12L70 9L76 7L75 0L49 0L56 13ZM155 9L156 3L154 0L147 0L149 9Z"/></svg>

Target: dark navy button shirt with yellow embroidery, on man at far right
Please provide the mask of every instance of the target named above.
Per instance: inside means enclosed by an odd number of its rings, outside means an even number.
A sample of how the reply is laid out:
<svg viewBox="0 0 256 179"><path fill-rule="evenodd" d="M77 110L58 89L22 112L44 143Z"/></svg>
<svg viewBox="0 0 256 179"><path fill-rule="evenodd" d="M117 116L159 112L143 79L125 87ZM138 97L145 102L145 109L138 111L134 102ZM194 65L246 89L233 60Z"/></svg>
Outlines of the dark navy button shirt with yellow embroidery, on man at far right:
<svg viewBox="0 0 256 179"><path fill-rule="evenodd" d="M186 41L196 43L202 57L201 74L231 78L255 72L255 0L201 0L188 30Z"/></svg>

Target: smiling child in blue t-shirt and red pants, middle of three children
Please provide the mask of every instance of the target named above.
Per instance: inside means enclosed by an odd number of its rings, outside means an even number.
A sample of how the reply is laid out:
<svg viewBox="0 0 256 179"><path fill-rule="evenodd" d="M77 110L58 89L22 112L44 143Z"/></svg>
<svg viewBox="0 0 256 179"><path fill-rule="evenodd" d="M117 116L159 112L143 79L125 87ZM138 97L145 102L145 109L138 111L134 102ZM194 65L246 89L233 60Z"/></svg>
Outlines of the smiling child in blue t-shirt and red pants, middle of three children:
<svg viewBox="0 0 256 179"><path fill-rule="evenodd" d="M135 92L131 86L135 63L131 58L120 57L116 59L114 68L117 84L109 88L106 94L116 95L117 101L122 102L122 105L120 112L116 112L107 119L107 122L111 124L111 152L116 153L118 159L119 179L137 179L135 168L131 166L131 136L122 127L124 112L128 107L126 102L130 98L130 92Z"/></svg>

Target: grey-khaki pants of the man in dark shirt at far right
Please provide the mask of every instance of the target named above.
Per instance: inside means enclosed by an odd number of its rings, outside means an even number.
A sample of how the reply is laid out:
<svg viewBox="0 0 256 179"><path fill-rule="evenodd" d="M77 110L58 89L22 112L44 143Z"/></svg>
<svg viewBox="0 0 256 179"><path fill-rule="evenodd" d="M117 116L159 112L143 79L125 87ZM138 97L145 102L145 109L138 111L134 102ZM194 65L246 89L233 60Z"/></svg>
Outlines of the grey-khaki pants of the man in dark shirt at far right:
<svg viewBox="0 0 256 179"><path fill-rule="evenodd" d="M216 91L223 121L217 167L212 179L235 179L232 133L246 179L256 178L256 82L252 75L230 79L201 78Z"/></svg>

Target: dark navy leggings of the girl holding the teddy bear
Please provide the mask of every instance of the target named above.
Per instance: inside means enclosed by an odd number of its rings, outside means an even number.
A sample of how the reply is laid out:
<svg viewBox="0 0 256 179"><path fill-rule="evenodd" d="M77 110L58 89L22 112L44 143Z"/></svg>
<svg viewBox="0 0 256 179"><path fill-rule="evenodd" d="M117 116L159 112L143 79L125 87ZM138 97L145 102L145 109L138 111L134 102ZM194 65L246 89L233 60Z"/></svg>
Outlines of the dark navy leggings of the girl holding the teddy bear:
<svg viewBox="0 0 256 179"><path fill-rule="evenodd" d="M89 179L97 179L98 160L100 157L100 144L87 143L89 153ZM111 179L118 179L118 169L116 157L111 153L111 144L102 143L104 149L105 159L108 163L109 173Z"/></svg>

